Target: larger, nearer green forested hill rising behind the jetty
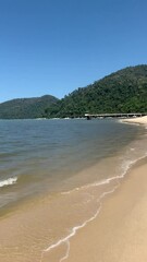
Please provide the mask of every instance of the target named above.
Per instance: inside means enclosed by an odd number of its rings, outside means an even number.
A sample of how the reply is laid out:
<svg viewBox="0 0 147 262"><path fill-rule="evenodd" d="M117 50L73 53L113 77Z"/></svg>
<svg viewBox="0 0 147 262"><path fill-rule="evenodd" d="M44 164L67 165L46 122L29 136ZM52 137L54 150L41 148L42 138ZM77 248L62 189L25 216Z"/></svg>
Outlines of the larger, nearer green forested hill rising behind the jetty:
<svg viewBox="0 0 147 262"><path fill-rule="evenodd" d="M112 73L46 109L49 118L82 117L85 112L147 112L147 66Z"/></svg>

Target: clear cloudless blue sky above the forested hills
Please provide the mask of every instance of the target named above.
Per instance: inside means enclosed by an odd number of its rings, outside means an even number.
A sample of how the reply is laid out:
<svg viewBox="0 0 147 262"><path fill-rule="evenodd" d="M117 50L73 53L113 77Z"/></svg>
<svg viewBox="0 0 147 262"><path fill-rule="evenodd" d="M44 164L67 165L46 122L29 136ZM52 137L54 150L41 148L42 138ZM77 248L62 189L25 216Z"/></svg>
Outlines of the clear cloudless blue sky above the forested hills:
<svg viewBox="0 0 147 262"><path fill-rule="evenodd" d="M0 103L147 63L147 0L0 0Z"/></svg>

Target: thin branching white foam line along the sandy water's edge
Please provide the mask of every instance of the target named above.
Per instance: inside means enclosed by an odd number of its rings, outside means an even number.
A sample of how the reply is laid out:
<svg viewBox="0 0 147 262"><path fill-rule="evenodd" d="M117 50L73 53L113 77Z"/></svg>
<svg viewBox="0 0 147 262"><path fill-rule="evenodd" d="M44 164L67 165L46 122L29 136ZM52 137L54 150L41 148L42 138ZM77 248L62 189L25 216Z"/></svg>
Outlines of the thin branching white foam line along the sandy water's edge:
<svg viewBox="0 0 147 262"><path fill-rule="evenodd" d="M52 243L51 246L49 246L47 249L42 250L41 252L41 258L40 258L40 262L42 262L44 260L44 255L45 253L47 252L50 252L52 249L61 246L61 245L66 245L66 252L64 254L64 257L62 257L59 262L62 262L64 260L66 260L69 258L69 254L70 254L70 239L72 237L75 236L76 231L79 230L81 228L85 227L88 223L93 222L98 215L99 215L99 212L102 207L102 200L105 199L106 195L108 194L111 194L115 191L115 189L118 189L121 184L120 182L120 179L123 179L124 176L127 174L128 169L138 160L142 160L144 159L145 157L147 157L147 154L137 158L137 159L134 159L134 160L128 160L128 162L125 162L125 165L122 166L122 174L120 176L114 176L114 177L111 177L111 178L108 178L108 179L105 179L105 180L101 180L101 181L98 181L98 182L95 182L95 183L90 183L90 184L86 184L86 186L83 186L81 188L75 188L71 191L66 191L66 192L62 192L62 194L69 194L71 192L74 192L74 191L78 191L78 190L83 190L83 189L87 189L89 187L99 187L101 184L108 184L110 183L111 181L115 180L117 181L117 186L114 186L111 190L107 191L107 192L103 192L97 200L97 203L98 203L98 209L96 211L96 213L94 214L94 216L91 216L90 218L88 218L87 221L85 221L83 224L78 225L78 226L75 226L71 229L71 233L64 237L64 238L61 238L59 241Z"/></svg>

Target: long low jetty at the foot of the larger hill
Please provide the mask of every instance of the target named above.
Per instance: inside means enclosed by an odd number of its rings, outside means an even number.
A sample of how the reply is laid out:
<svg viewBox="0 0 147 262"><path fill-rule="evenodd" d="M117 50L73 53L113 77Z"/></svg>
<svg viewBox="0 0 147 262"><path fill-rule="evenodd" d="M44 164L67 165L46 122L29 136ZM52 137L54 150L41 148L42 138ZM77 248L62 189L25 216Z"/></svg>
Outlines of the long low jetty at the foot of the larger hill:
<svg viewBox="0 0 147 262"><path fill-rule="evenodd" d="M118 112L118 114L85 114L87 120L91 118L135 118L135 117L143 117L147 116L147 112Z"/></svg>

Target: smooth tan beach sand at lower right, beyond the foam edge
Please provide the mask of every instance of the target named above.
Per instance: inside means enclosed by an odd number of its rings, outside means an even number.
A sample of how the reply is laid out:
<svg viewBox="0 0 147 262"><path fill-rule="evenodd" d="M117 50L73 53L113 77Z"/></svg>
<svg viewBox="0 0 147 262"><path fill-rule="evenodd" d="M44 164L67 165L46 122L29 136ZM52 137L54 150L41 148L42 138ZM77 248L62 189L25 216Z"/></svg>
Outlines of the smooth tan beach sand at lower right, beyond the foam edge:
<svg viewBox="0 0 147 262"><path fill-rule="evenodd" d="M103 201L97 218L71 239L65 261L147 261L146 160L128 171L121 187Z"/></svg>

